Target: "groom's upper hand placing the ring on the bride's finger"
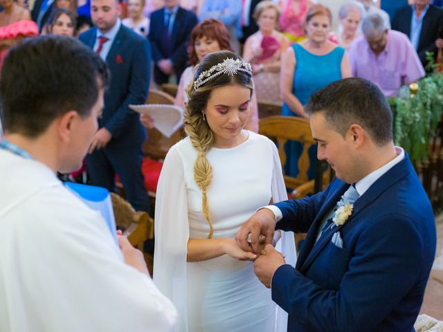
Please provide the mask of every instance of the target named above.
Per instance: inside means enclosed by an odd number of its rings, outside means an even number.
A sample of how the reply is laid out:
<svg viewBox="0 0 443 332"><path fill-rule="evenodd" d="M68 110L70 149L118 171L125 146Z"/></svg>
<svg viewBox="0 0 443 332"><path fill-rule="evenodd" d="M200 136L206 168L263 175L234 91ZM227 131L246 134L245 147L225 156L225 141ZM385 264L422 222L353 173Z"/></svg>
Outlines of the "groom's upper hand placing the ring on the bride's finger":
<svg viewBox="0 0 443 332"><path fill-rule="evenodd" d="M235 234L235 241L242 250L260 255L264 244L272 243L274 229L275 216L273 212L269 209L260 209L242 225ZM251 243L248 242L249 234L251 234ZM262 237L260 238L260 236Z"/></svg>

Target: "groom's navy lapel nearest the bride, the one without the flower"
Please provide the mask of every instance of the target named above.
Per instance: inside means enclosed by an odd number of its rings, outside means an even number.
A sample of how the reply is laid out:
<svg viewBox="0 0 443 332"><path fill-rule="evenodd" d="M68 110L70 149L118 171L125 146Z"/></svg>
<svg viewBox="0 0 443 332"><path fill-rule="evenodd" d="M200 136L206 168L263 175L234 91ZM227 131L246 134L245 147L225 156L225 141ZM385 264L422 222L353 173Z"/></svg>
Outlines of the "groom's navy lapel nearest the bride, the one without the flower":
<svg viewBox="0 0 443 332"><path fill-rule="evenodd" d="M347 188L349 188L349 184L343 183L341 187L327 198L325 203L322 205L322 208L318 212L316 219L311 224L307 232L307 237L305 239L305 243L303 244L303 249L300 252L300 255L297 258L296 268L299 270L301 266L304 266L305 260L310 257L311 250L315 245L315 241L317 239L318 228L320 227L321 222L325 218L326 214L329 213L332 208L336 205L338 201L340 201L341 196L346 192Z"/></svg>

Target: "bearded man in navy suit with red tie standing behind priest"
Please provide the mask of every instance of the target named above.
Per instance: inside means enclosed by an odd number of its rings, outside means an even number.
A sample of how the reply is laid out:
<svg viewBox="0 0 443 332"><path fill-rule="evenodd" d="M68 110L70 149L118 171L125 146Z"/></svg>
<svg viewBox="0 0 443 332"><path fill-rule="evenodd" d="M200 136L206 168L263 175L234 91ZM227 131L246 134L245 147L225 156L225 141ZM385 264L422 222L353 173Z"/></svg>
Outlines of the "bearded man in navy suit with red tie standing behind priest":
<svg viewBox="0 0 443 332"><path fill-rule="evenodd" d="M114 190L118 173L129 203L150 212L141 174L141 145L145 140L138 114L129 104L143 104L150 77L150 44L121 24L117 0L91 0L91 19L96 26L80 40L105 59L111 83L105 93L100 129L91 143L87 170L93 185Z"/></svg>

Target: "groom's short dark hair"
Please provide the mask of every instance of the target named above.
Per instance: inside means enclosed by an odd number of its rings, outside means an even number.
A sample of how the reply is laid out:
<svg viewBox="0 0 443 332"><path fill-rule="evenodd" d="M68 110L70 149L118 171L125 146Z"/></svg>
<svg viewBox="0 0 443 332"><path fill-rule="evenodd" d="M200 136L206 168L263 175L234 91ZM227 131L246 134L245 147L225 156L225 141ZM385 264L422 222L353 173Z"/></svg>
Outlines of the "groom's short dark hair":
<svg viewBox="0 0 443 332"><path fill-rule="evenodd" d="M327 125L343 137L351 124L359 124L378 145L392 140L392 111L380 89L368 80L338 80L311 95L309 115L323 112Z"/></svg>

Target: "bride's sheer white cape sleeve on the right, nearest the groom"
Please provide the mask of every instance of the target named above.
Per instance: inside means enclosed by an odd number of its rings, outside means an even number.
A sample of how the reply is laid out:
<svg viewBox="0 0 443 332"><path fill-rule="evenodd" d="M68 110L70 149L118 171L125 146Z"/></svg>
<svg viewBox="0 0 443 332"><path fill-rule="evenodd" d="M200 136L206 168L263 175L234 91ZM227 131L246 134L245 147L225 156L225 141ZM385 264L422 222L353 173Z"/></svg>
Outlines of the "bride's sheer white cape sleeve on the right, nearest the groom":
<svg viewBox="0 0 443 332"><path fill-rule="evenodd" d="M280 157L278 156L277 147L272 143L273 149L273 175L272 175L272 200L273 203L278 203L280 201L286 201L288 199L288 194L286 191L286 186L284 185L282 165L280 163ZM293 238L293 232L282 232L282 238L278 241L275 249L282 252L286 258L286 264L291 266L296 266L296 244ZM287 312L284 311L280 306L277 308L277 324L275 331L286 331L288 322Z"/></svg>

